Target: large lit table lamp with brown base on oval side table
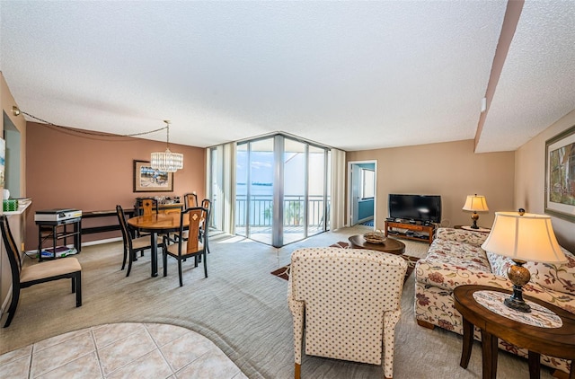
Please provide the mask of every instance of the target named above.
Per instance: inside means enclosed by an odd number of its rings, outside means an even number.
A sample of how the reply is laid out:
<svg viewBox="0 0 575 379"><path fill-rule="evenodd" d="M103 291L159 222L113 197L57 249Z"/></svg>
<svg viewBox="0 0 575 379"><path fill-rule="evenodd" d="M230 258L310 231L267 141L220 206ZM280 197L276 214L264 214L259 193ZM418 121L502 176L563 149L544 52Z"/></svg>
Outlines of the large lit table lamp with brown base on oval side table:
<svg viewBox="0 0 575 379"><path fill-rule="evenodd" d="M553 233L551 217L525 213L524 209L495 212L491 233L482 243L482 249L515 262L507 270L513 294L503 303L519 312L531 312L523 300L523 286L531 279L531 273L523 267L526 260L547 263L567 260Z"/></svg>

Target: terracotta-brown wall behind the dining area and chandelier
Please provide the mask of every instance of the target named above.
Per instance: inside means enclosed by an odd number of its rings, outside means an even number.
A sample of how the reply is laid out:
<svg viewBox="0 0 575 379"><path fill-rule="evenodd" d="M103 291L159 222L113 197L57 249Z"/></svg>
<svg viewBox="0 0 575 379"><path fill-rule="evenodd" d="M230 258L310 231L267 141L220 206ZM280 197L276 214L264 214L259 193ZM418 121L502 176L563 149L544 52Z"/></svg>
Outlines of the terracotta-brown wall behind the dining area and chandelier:
<svg viewBox="0 0 575 379"><path fill-rule="evenodd" d="M28 197L26 250L38 247L34 213L39 209L77 208L84 212L114 210L134 205L136 197L181 196L196 191L205 198L205 149L170 144L184 156L184 168L174 173L173 192L133 192L133 160L149 161L153 151L164 151L165 142L128 137L94 137L38 123L28 123ZM83 225L117 223L115 217L84 220ZM83 242L120 236L119 232L86 234Z"/></svg>

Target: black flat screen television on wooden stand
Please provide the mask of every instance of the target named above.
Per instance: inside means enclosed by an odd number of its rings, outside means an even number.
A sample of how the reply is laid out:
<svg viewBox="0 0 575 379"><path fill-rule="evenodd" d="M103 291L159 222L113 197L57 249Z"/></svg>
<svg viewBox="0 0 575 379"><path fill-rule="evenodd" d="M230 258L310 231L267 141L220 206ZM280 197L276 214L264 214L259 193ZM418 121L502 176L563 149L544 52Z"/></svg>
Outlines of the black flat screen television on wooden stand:
<svg viewBox="0 0 575 379"><path fill-rule="evenodd" d="M441 222L441 197L438 195L389 194L389 216L422 223Z"/></svg>

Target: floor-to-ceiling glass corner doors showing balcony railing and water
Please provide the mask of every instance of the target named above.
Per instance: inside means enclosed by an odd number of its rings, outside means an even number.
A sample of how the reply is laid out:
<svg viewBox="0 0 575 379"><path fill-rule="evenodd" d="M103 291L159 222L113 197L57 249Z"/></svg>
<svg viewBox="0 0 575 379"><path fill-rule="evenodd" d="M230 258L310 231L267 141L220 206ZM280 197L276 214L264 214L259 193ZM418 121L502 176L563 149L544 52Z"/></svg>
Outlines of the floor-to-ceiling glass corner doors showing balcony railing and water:
<svg viewBox="0 0 575 379"><path fill-rule="evenodd" d="M236 148L235 234L283 246L328 225L328 150L276 135Z"/></svg>

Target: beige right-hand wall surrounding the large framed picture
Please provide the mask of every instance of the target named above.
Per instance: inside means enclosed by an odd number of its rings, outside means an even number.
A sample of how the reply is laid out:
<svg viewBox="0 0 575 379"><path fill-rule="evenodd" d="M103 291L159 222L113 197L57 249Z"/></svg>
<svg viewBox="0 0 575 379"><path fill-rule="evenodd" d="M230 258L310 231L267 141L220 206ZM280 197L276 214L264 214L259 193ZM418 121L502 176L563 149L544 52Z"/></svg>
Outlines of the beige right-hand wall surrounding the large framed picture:
<svg viewBox="0 0 575 379"><path fill-rule="evenodd" d="M538 136L517 149L516 207L531 213L544 213L545 141L575 125L575 110L559 119ZM575 251L575 223L552 216L557 240L569 251Z"/></svg>

